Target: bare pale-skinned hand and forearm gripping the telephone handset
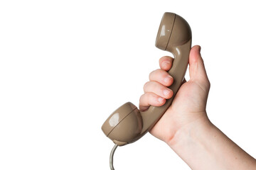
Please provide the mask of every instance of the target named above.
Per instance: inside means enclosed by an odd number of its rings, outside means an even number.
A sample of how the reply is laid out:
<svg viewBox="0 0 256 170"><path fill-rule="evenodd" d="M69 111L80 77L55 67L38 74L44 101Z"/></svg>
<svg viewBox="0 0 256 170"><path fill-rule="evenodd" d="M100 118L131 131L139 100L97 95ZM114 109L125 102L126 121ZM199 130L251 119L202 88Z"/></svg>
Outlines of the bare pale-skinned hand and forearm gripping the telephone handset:
<svg viewBox="0 0 256 170"><path fill-rule="evenodd" d="M213 125L206 113L210 90L201 47L191 48L189 81L184 81L172 105L151 130L151 134L166 142L193 170L255 170L256 160ZM161 57L160 69L149 74L139 109L162 106L173 93L167 86L175 81L168 73L174 59Z"/></svg>

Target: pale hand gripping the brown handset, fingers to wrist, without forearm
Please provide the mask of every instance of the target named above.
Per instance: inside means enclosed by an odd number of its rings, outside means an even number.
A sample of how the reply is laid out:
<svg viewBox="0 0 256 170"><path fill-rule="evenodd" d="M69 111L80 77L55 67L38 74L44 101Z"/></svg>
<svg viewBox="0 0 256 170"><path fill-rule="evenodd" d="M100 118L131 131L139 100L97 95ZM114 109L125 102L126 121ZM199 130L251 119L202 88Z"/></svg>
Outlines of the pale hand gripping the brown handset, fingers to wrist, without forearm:
<svg viewBox="0 0 256 170"><path fill-rule="evenodd" d="M152 128L151 134L171 145L174 136L191 123L209 122L206 115L206 101L210 89L206 69L200 54L201 47L196 45L191 48L189 55L189 81L184 81L178 90L173 103ZM170 86L173 79L167 71L171 69L174 61L171 57L161 57L159 65L149 74L149 82L144 85L144 94L139 100L139 108L145 111L149 106L162 106L166 99L171 98L173 93Z"/></svg>

